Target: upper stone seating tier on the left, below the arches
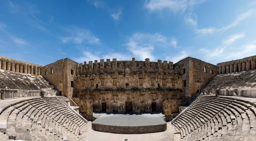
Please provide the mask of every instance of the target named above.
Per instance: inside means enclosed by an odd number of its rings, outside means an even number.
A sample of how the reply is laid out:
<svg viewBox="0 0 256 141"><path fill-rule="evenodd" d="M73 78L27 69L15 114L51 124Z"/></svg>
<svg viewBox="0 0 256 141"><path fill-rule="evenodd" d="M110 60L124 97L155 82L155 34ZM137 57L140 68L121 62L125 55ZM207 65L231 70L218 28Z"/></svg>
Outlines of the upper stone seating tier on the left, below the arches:
<svg viewBox="0 0 256 141"><path fill-rule="evenodd" d="M6 87L9 89L23 90L54 89L40 75L0 70L0 89Z"/></svg>

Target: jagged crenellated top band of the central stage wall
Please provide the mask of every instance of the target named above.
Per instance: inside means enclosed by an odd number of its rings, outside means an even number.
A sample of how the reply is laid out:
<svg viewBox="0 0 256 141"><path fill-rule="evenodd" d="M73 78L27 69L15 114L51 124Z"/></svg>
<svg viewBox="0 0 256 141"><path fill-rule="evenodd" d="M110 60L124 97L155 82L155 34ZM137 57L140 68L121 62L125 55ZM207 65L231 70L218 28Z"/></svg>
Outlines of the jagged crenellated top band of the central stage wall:
<svg viewBox="0 0 256 141"><path fill-rule="evenodd" d="M80 75L91 74L91 73L137 73L137 72L147 72L147 73L173 73L173 62L167 62L162 60L157 60L157 62L150 62L148 58L145 61L135 61L132 58L131 61L117 61L113 59L100 59L84 62L84 64L79 64L78 69Z"/></svg>

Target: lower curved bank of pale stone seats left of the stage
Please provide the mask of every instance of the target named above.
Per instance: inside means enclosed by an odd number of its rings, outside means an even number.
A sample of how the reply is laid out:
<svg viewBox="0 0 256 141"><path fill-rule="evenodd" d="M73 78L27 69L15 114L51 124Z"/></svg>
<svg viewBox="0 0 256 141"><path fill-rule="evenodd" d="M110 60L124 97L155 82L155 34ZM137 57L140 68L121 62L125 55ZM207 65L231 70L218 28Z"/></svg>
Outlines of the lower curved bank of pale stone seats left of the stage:
<svg viewBox="0 0 256 141"><path fill-rule="evenodd" d="M25 99L0 114L0 138L25 141L79 141L84 122L66 102L64 96ZM4 124L5 123L5 124Z"/></svg>

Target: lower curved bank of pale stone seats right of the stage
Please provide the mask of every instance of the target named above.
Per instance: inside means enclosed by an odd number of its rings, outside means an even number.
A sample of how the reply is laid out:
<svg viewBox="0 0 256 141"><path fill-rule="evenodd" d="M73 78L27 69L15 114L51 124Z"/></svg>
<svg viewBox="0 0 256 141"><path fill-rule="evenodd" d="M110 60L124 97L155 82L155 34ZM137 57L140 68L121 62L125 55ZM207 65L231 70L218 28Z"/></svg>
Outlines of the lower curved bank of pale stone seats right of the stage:
<svg viewBox="0 0 256 141"><path fill-rule="evenodd" d="M256 107L233 97L200 96L173 122L182 141L256 139Z"/></svg>

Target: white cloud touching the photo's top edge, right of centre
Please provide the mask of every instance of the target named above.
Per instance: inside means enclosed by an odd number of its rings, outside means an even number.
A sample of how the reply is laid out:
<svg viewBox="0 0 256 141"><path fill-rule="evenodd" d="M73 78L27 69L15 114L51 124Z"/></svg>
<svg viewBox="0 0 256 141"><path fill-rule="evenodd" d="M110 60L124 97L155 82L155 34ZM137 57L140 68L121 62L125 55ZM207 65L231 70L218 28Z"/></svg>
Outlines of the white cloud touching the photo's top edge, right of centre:
<svg viewBox="0 0 256 141"><path fill-rule="evenodd" d="M149 11L160 11L166 8L174 13L178 11L185 11L187 5L188 0L149 0L145 3L145 7Z"/></svg>

